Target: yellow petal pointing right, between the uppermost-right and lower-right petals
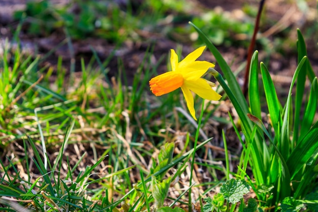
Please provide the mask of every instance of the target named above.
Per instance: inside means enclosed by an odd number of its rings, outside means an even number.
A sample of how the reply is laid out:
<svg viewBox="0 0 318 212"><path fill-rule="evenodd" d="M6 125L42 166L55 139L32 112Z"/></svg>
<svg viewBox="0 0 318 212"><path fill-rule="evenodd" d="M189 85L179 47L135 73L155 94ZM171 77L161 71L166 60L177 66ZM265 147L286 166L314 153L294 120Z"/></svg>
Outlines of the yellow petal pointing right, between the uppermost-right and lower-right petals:
<svg viewBox="0 0 318 212"><path fill-rule="evenodd" d="M185 67L181 74L185 80L195 80L204 75L209 68L213 68L215 65L206 61L195 61Z"/></svg>

